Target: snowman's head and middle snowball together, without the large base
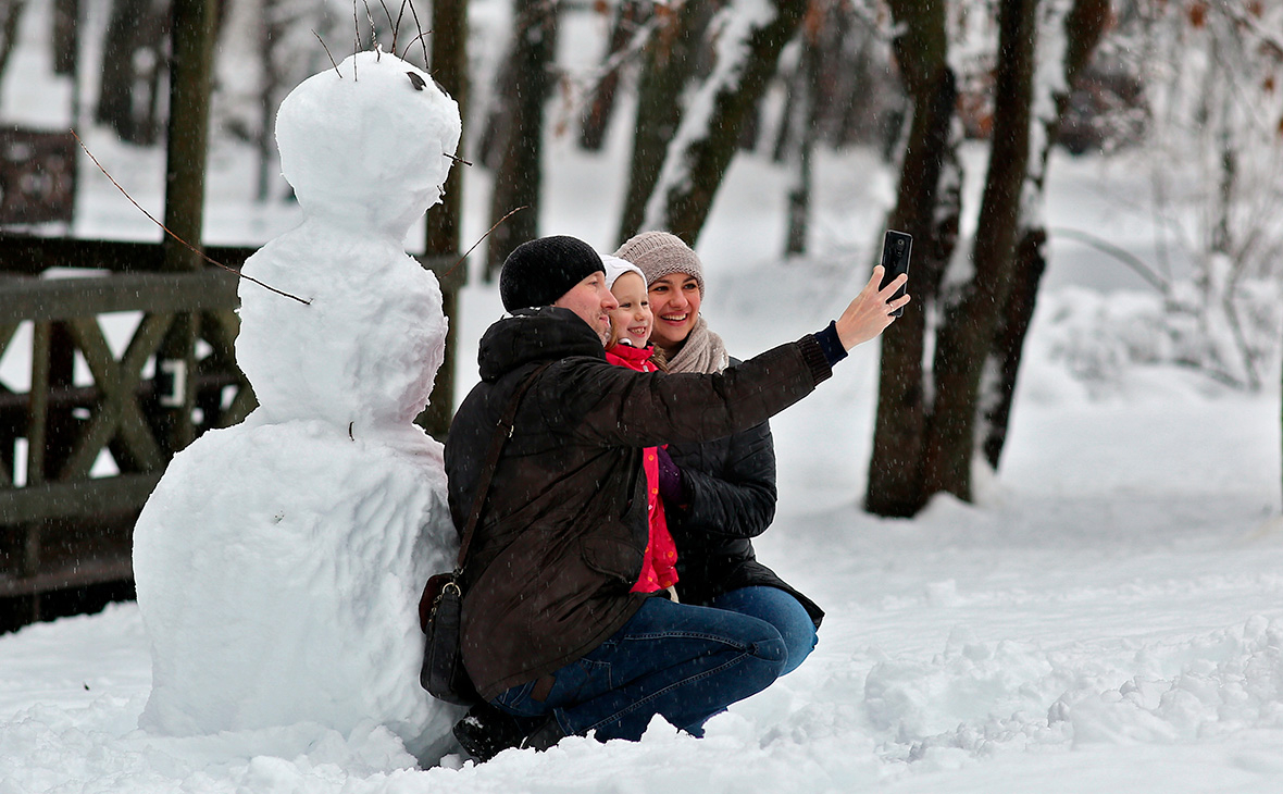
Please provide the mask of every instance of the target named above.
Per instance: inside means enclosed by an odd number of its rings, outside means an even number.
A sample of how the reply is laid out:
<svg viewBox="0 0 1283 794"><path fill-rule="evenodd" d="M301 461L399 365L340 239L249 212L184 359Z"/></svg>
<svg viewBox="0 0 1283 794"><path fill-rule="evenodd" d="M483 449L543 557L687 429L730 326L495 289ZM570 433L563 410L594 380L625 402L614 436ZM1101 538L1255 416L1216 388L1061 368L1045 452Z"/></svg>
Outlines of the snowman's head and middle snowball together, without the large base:
<svg viewBox="0 0 1283 794"><path fill-rule="evenodd" d="M341 76L340 76L341 74ZM440 198L458 106L386 53L358 53L281 104L281 167L309 222L249 258L236 358L269 422L327 419L344 434L408 426L444 355L436 278L405 255Z"/></svg>

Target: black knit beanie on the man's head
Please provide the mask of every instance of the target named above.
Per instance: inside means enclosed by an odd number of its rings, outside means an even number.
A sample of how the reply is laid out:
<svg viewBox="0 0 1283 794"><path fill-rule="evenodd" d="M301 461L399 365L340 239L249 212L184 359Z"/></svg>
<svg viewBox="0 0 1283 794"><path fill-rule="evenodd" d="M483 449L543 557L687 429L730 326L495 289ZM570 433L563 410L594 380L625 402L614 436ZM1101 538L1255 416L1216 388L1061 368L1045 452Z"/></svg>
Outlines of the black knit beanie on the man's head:
<svg viewBox="0 0 1283 794"><path fill-rule="evenodd" d="M580 281L606 272L593 246L576 237L539 237L503 260L499 298L508 312L552 305Z"/></svg>

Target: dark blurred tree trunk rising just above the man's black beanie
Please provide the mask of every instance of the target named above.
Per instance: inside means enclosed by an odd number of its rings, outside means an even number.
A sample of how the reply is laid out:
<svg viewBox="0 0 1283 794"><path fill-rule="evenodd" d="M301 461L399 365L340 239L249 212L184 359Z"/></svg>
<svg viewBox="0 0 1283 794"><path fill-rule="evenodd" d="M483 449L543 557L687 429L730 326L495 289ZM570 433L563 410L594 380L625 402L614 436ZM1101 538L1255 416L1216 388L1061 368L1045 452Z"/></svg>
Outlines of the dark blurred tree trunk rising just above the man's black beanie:
<svg viewBox="0 0 1283 794"><path fill-rule="evenodd" d="M498 223L525 207L490 235L486 277L498 273L503 260L526 240L539 236L539 190L543 183L544 104L553 89L549 69L557 53L558 6L544 0L517 0L512 63L514 95L511 100L507 140L500 146L494 174L490 221Z"/></svg>

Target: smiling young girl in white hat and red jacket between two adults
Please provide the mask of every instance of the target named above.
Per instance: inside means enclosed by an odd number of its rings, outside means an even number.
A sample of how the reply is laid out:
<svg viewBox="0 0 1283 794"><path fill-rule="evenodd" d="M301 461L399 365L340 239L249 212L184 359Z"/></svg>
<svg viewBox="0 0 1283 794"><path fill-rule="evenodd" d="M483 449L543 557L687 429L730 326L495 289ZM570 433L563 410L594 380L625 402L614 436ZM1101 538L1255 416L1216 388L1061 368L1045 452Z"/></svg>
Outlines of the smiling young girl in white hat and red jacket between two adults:
<svg viewBox="0 0 1283 794"><path fill-rule="evenodd" d="M611 312L611 339L606 345L606 359L618 367L638 372L657 372L662 367L656 360L656 350L649 346L654 317L647 295L645 276L642 271L616 257L602 257L606 266L606 286L620 301ZM633 586L634 593L667 590L677 600L677 545L668 532L659 496L659 458L667 453L656 446L642 450L642 468L645 471L647 500L649 502L650 541L647 545L642 576Z"/></svg>

